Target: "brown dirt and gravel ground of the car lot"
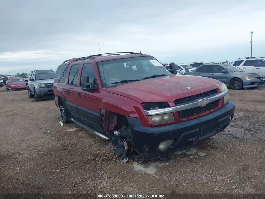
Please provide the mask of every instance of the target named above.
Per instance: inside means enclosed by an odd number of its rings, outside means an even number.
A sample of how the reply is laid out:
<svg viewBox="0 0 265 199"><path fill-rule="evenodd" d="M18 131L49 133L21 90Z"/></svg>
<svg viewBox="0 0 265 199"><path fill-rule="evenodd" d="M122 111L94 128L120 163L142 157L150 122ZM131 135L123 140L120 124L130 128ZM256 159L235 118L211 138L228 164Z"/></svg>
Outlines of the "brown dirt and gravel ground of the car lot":
<svg viewBox="0 0 265 199"><path fill-rule="evenodd" d="M91 163L109 141L61 127L52 98L0 87L0 193L265 193L265 88L229 95L229 127L166 161Z"/></svg>

